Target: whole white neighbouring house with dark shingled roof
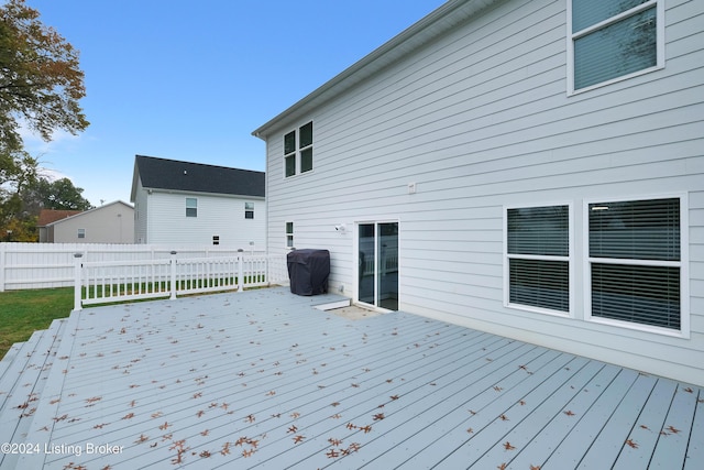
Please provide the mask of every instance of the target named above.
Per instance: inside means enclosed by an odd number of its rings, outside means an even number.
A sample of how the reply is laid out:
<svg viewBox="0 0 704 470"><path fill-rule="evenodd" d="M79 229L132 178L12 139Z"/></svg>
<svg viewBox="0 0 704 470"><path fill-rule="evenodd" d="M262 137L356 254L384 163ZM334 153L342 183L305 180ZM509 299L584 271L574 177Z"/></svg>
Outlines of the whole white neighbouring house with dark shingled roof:
<svg viewBox="0 0 704 470"><path fill-rule="evenodd" d="M265 249L263 172L136 155L136 243Z"/></svg>

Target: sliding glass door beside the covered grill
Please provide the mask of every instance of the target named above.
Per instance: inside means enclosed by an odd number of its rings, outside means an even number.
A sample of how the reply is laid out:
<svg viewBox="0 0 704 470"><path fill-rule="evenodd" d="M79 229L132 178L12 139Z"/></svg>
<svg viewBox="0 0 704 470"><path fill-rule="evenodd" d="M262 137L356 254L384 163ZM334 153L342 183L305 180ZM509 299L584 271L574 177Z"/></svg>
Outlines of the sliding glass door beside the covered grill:
<svg viewBox="0 0 704 470"><path fill-rule="evenodd" d="M398 222L359 225L359 300L398 309Z"/></svg>

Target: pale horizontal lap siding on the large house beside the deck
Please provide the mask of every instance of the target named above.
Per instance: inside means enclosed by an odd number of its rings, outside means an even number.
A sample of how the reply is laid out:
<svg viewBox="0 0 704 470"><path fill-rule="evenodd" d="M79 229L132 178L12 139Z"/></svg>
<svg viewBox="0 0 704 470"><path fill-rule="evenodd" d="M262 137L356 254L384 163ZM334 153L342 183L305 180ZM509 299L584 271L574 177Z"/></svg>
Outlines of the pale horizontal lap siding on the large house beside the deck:
<svg viewBox="0 0 704 470"><path fill-rule="evenodd" d="M283 249L294 221L294 244L330 249L332 285L352 287L354 222L398 218L403 309L635 368L651 367L650 354L670 358L656 372L704 374L704 12L695 3L666 4L664 69L568 97L565 1L502 2L292 122L268 138L270 249ZM283 134L310 119L315 170L285 179ZM676 192L689 193L691 339L584 321L583 200ZM506 309L504 205L565 201L575 319ZM342 222L348 233L336 232Z"/></svg>

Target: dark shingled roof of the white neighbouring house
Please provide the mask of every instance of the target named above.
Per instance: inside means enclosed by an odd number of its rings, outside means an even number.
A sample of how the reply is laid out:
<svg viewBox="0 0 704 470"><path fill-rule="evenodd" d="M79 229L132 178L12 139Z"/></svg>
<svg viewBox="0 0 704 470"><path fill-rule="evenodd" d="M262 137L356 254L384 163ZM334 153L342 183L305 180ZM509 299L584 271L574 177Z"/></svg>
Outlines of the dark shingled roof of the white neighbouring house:
<svg viewBox="0 0 704 470"><path fill-rule="evenodd" d="M264 172L135 156L142 187L264 197Z"/></svg>

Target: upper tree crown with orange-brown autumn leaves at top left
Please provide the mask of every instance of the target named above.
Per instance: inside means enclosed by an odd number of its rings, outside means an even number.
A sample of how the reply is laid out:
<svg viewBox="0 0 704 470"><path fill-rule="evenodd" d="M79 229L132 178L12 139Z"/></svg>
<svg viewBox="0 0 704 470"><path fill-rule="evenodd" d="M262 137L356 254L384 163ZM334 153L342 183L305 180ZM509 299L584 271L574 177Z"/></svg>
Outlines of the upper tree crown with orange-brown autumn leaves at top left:
<svg viewBox="0 0 704 470"><path fill-rule="evenodd" d="M24 0L0 7L0 145L10 150L22 147L22 121L46 141L89 125L78 103L86 96L78 51L38 17Z"/></svg>

